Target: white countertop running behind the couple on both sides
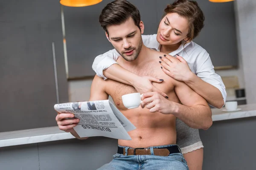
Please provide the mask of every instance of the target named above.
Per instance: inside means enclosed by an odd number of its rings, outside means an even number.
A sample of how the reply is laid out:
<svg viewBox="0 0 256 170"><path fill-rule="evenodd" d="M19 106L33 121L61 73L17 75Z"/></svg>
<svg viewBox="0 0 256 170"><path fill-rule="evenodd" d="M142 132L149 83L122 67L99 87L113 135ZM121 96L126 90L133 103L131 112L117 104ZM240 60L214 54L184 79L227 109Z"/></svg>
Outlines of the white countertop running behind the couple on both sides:
<svg viewBox="0 0 256 170"><path fill-rule="evenodd" d="M223 112L223 109L212 109L212 121L238 119L256 116L256 104L239 105L241 111ZM14 146L20 144L32 144L75 138L70 133L58 129L58 126L43 127L28 130L16 130L0 133L0 147Z"/></svg>

